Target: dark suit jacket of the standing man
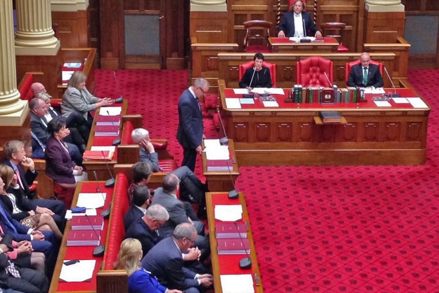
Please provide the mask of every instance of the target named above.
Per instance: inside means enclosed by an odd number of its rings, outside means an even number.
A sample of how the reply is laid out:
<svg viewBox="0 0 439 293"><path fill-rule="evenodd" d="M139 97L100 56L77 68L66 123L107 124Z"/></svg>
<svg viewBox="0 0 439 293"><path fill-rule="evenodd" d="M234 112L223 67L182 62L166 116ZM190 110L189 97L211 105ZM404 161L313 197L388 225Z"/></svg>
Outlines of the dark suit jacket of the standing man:
<svg viewBox="0 0 439 293"><path fill-rule="evenodd" d="M203 131L203 114L199 101L187 89L178 101L177 140L183 148L195 149L201 145Z"/></svg>

